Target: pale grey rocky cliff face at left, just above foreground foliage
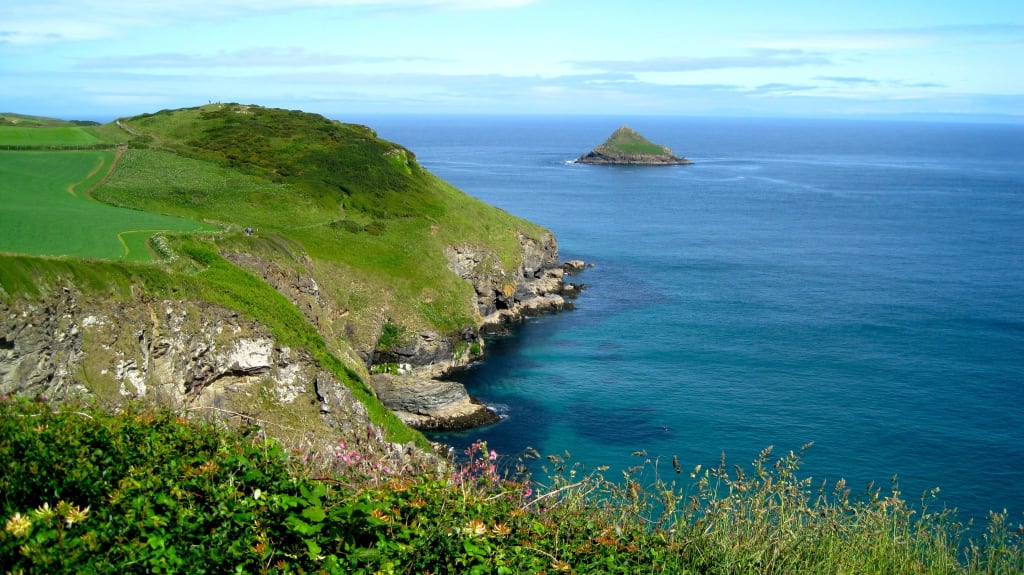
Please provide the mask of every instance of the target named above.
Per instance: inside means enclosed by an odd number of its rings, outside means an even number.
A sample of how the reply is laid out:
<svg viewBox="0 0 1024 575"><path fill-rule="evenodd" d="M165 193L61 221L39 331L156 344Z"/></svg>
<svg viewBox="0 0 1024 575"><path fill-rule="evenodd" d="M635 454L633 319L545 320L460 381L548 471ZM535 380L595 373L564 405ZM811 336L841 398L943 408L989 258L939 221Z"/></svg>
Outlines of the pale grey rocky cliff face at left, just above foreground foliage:
<svg viewBox="0 0 1024 575"><path fill-rule="evenodd" d="M369 434L395 469L414 455L388 443L364 404L306 352L206 303L101 302L61 288L39 301L0 304L0 394L145 399L267 426L269 435L301 430L322 446Z"/></svg>

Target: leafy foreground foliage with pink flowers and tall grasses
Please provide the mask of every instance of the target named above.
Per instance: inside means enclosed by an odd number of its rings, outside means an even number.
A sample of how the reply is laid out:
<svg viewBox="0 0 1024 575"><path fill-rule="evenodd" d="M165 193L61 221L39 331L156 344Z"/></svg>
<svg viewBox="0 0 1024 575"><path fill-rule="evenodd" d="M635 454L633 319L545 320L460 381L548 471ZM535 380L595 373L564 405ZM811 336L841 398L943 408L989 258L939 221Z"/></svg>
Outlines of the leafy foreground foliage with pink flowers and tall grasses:
<svg viewBox="0 0 1024 575"><path fill-rule="evenodd" d="M0 565L10 573L1021 573L1020 532L982 540L897 490L815 493L799 456L622 481L564 459L547 485L476 444L451 474L349 438L288 450L173 412L0 403ZM681 472L674 461L676 472ZM641 485L642 477L653 478ZM690 483L687 483L690 485Z"/></svg>

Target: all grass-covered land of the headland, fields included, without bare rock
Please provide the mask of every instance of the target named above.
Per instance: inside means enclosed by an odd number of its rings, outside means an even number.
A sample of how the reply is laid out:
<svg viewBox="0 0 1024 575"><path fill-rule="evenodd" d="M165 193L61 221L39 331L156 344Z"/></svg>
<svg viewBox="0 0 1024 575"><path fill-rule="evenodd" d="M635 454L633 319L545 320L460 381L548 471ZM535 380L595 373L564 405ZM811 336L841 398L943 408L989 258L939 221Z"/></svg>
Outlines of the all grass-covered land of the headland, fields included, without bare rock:
<svg viewBox="0 0 1024 575"><path fill-rule="evenodd" d="M317 115L211 104L104 125L3 118L0 302L70 283L111 305L237 310L347 383L395 441L423 444L365 385L367 350L385 331L400 344L475 324L475 293L445 247L478 247L511 272L519 235L544 232L370 128ZM260 265L318 293L296 296L300 310L254 275Z"/></svg>

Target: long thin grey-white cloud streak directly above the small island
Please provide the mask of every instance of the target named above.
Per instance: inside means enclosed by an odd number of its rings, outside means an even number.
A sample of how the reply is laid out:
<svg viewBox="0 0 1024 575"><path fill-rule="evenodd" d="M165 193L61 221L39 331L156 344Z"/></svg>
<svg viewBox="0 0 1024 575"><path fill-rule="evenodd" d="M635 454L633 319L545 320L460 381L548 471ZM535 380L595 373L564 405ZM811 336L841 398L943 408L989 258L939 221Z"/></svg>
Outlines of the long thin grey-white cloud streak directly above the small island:
<svg viewBox="0 0 1024 575"><path fill-rule="evenodd" d="M794 68L831 63L824 55L804 50L757 49L737 56L662 57L640 60L572 60L579 69L609 72L695 72L703 70Z"/></svg>

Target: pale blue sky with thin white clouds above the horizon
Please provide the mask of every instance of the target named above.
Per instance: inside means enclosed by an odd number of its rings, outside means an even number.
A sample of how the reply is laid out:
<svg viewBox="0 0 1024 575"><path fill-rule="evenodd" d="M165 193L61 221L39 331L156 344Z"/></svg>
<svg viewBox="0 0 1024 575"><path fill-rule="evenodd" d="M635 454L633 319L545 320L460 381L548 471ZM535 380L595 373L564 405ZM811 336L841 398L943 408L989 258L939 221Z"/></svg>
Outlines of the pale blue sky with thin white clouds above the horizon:
<svg viewBox="0 0 1024 575"><path fill-rule="evenodd" d="M0 113L1024 122L1022 0L33 0Z"/></svg>

